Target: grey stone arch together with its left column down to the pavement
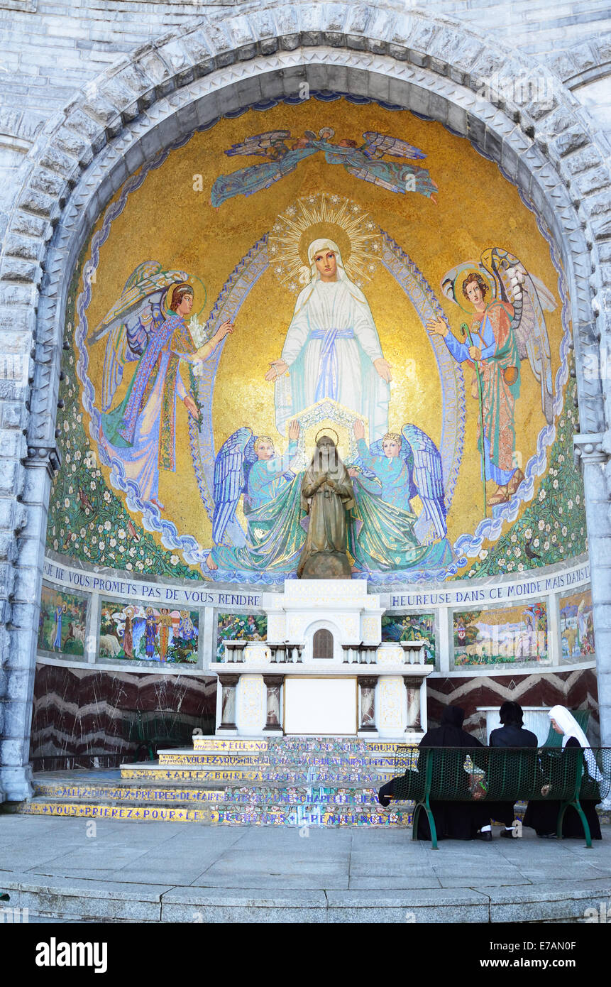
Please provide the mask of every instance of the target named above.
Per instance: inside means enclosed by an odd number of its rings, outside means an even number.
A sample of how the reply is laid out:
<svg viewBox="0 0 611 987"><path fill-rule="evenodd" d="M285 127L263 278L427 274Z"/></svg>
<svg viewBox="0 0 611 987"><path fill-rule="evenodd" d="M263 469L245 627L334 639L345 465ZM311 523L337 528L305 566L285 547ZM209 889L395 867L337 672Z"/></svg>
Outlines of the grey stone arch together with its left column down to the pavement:
<svg viewBox="0 0 611 987"><path fill-rule="evenodd" d="M495 73L542 73L553 99L542 107L506 94L491 102L483 83ZM10 579L3 604L2 653L21 676L9 707L3 779L11 796L28 793L29 715L35 660L49 479L57 464L54 442L62 319L68 275L95 220L116 190L152 155L219 115L269 97L293 96L300 84L369 95L442 122L491 157L532 201L552 232L570 285L584 455L606 458L604 394L597 313L611 301L611 266L598 245L611 233L611 198L588 188L594 145L587 114L558 76L500 42L423 11L392 3L267 3L210 16L124 56L36 135L24 161L22 186L8 219L0 256L0 332L22 359L14 389L21 404L6 467L7 495L27 505L13 509L18 551L6 549ZM583 171L574 164L583 162ZM608 170L605 169L608 184ZM596 298L593 298L594 293ZM601 320L602 321L602 320ZM24 345L22 342L26 341ZM31 383L29 383L31 382ZM15 412L15 415L17 413ZM594 444L592 445L592 437ZM589 448L593 449L590 454ZM611 480L610 480L611 483ZM19 506L19 505L18 505ZM33 602L34 601L34 602ZM13 768L15 771L13 772ZM21 779L21 781L20 781Z"/></svg>

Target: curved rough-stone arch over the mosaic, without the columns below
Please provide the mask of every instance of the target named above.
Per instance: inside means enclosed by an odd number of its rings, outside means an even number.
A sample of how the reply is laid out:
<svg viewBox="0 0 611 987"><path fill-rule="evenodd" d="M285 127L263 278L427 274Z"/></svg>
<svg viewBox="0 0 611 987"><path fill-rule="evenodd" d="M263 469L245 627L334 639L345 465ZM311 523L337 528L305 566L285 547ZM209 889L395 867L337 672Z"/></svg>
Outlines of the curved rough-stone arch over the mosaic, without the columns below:
<svg viewBox="0 0 611 987"><path fill-rule="evenodd" d="M559 247L563 237L570 240L562 252L573 281L573 322L581 331L575 338L587 344L594 332L587 278L596 260L588 253L597 233L606 233L596 218L606 210L597 200L599 188L582 194L582 180L576 179L572 193L573 170L564 159L573 160L577 151L582 155L591 140L583 131L581 108L567 90L558 92L557 77L501 48L487 50L474 33L419 12L399 15L391 7L374 12L360 6L339 12L332 4L315 10L298 4L224 19L222 26L197 22L180 39L166 36L144 45L127 64L110 68L38 135L9 221L0 282L19 286L17 297L30 311L39 300L36 337L45 351L38 348L37 365L48 363L46 347L58 339L66 266L73 265L97 215L125 179L181 133L258 97L295 95L300 83L416 110L496 160L532 199ZM494 103L483 99L478 95L483 80L499 72L543 72L556 83L552 106L518 105L500 95ZM56 390L48 373L42 376L35 390ZM45 431L55 396L49 393L43 409L33 402L33 447L50 437ZM594 398L580 387L588 432L602 423Z"/></svg>

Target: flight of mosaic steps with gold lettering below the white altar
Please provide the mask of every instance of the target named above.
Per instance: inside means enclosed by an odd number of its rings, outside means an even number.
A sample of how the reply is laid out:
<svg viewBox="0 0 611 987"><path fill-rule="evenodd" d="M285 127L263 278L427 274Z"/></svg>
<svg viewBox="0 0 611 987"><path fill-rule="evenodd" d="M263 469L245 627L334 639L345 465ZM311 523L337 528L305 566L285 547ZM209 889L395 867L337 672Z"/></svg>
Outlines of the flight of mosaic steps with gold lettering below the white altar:
<svg viewBox="0 0 611 987"><path fill-rule="evenodd" d="M120 769L45 772L11 811L221 825L408 826L412 806L383 811L395 744L357 738L196 735L193 747Z"/></svg>

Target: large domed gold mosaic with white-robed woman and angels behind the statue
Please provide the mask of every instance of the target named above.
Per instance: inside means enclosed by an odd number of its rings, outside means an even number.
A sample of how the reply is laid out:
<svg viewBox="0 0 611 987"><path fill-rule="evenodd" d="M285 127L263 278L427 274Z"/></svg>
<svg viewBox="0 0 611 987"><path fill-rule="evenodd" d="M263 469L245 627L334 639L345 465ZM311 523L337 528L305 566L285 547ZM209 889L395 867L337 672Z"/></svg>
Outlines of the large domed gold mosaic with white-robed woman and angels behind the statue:
<svg viewBox="0 0 611 987"><path fill-rule="evenodd" d="M176 183L197 190L187 233ZM81 256L49 548L294 577L326 432L352 577L578 556L566 303L527 203L437 124L343 99L221 120L130 180Z"/></svg>

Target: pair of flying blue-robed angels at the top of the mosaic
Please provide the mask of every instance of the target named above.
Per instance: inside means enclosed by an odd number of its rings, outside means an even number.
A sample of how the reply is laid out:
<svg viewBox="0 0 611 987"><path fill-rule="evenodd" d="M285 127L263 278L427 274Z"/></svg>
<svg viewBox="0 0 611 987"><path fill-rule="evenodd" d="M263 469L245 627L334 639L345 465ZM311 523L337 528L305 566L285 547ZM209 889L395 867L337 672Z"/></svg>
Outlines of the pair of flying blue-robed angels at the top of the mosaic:
<svg viewBox="0 0 611 987"><path fill-rule="evenodd" d="M212 186L210 204L218 208L236 195L254 195L269 189L315 154L324 154L327 164L342 165L344 171L363 182L404 195L415 191L435 201L437 186L428 171L409 163L420 162L426 157L420 148L377 130L366 130L360 141L342 137L334 143L335 136L333 127L321 127L318 134L305 130L301 137L291 137L290 130L278 129L254 134L233 144L225 151L229 157L252 155L265 160L228 175L219 175ZM397 160L387 160L386 156Z"/></svg>

